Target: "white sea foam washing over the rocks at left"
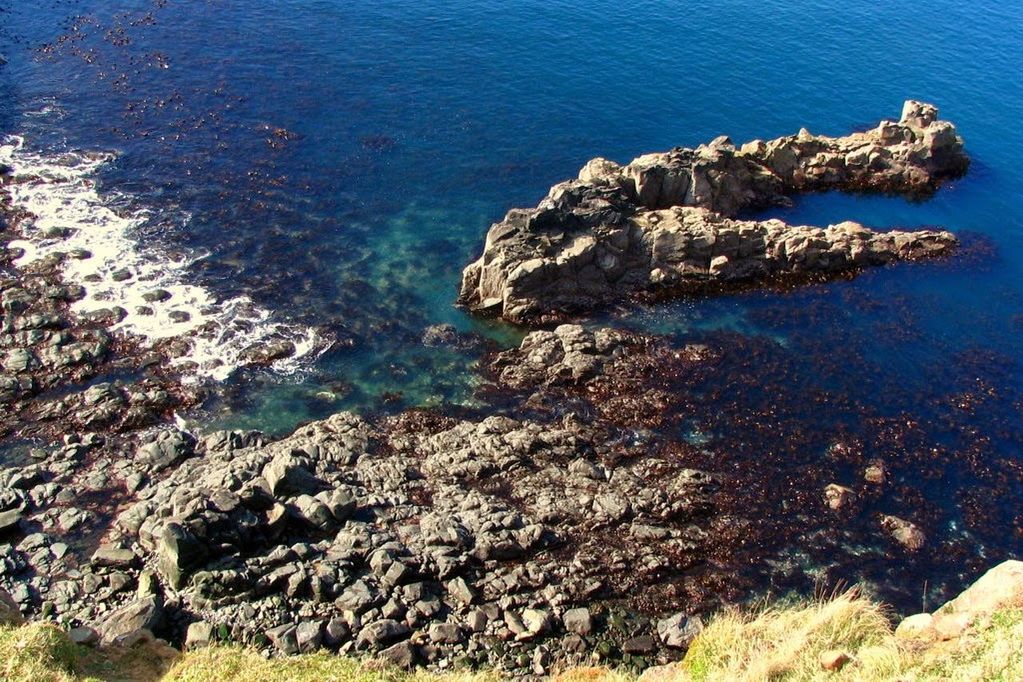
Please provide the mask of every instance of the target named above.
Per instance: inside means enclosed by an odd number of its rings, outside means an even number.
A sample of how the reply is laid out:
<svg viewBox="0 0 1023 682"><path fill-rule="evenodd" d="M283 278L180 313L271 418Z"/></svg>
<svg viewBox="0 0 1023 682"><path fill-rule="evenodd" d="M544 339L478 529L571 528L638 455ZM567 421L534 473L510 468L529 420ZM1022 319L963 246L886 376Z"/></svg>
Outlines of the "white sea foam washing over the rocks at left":
<svg viewBox="0 0 1023 682"><path fill-rule="evenodd" d="M246 364L252 350L272 342L290 340L296 348L292 357L272 365L282 373L298 371L325 350L312 329L275 321L247 297L218 301L208 288L189 283L189 266L203 255L172 257L141 243L137 230L153 220L151 213L115 211L115 202L130 201L96 191L96 172L114 158L108 153L38 153L19 137L0 144L0 164L11 167L16 178L6 191L15 207L33 216L21 222L21 238L9 244L24 252L15 265L25 267L54 254L88 254L63 261L65 281L86 289L73 312L122 308L127 316L115 331L150 346L172 338L187 342L187 351L172 362L195 380L227 378ZM118 281L125 271L130 278ZM159 290L170 298L146 302L147 293ZM176 320L176 311L187 313L188 319Z"/></svg>

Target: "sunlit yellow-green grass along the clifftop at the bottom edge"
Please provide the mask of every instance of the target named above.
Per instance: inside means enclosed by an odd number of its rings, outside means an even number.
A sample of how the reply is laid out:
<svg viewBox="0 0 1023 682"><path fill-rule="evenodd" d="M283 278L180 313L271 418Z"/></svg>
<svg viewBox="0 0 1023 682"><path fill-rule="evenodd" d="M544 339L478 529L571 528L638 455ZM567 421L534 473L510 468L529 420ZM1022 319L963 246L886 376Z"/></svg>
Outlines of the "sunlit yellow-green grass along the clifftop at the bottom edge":
<svg viewBox="0 0 1023 682"><path fill-rule="evenodd" d="M819 656L838 649L838 672ZM0 628L0 681L78 682L496 682L496 672L404 672L329 653L266 658L220 645L178 653L159 642L134 649L76 646L43 624ZM558 682L629 682L628 674L576 668ZM857 680L904 682L1023 680L1023 608L998 611L960 639L925 644L897 639L884 607L854 594L834 599L726 610L714 617L685 658L656 682Z"/></svg>

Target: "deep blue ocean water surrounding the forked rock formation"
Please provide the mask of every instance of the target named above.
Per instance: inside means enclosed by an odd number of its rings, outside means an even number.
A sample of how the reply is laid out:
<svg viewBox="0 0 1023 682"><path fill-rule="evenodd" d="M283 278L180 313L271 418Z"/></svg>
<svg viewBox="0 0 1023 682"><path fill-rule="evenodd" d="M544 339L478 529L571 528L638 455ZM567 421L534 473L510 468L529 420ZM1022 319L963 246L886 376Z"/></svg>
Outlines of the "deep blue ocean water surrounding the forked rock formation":
<svg viewBox="0 0 1023 682"><path fill-rule="evenodd" d="M934 102L966 139L967 177L926 201L824 194L770 215L940 225L964 238L955 259L590 323L773 345L795 374L764 370L761 394L708 401L835 398L788 415L813 436L794 446L803 458L838 430L904 418L920 434L901 447L1023 461L1023 4L0 0L0 55L8 163L91 165L34 206L107 230L109 263L88 267L147 263L191 297L182 329L219 325L196 358L216 388L197 418L272 433L343 408L475 405L482 347L428 347L422 332L521 338L452 306L461 268L492 222L592 156L842 134L897 118L904 99ZM139 320L125 331L157 334ZM299 340L299 357L209 362L254 338ZM972 411L950 417L957 397ZM747 457L767 447L733 441ZM971 471L917 487L947 534ZM992 560L1023 552L1023 481L998 482L978 488L991 516L973 545Z"/></svg>

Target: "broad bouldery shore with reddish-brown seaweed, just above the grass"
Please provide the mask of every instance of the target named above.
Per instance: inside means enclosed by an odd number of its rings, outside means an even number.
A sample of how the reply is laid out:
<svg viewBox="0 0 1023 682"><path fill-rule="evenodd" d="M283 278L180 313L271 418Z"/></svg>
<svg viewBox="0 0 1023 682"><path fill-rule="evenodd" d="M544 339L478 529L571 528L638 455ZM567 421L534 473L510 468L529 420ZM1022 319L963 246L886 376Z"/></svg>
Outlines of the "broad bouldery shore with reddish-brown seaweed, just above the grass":
<svg viewBox="0 0 1023 682"><path fill-rule="evenodd" d="M832 580L932 566L938 546L976 567L904 478L991 462L910 456L905 420L866 416L875 442L824 435L825 455L794 461L791 443L815 436L793 412L821 397L783 365L792 390L751 398L736 378L760 380L749 363L777 360L739 336L562 325L485 358L481 413L343 412L279 440L82 434L0 472L0 590L86 642L541 674L676 660L765 566L779 589L804 584L796 547ZM87 543L82 528L97 529Z"/></svg>

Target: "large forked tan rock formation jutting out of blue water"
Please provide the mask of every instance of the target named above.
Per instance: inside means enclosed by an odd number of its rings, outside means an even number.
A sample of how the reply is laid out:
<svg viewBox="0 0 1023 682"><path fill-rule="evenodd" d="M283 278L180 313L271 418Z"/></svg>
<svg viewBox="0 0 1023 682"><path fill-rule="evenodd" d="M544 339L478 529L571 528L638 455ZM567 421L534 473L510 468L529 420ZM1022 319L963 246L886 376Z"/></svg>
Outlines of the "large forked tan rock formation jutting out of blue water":
<svg viewBox="0 0 1023 682"><path fill-rule="evenodd" d="M513 209L465 268L459 303L523 322L601 306L640 290L807 277L946 253L943 231L873 232L736 218L800 192L924 195L965 172L955 128L907 101L898 123L845 137L798 135L737 148L719 137L696 149L594 158L535 209Z"/></svg>

